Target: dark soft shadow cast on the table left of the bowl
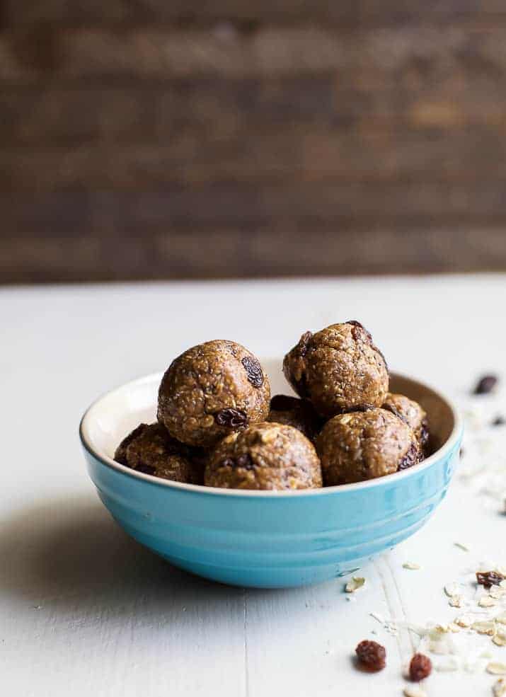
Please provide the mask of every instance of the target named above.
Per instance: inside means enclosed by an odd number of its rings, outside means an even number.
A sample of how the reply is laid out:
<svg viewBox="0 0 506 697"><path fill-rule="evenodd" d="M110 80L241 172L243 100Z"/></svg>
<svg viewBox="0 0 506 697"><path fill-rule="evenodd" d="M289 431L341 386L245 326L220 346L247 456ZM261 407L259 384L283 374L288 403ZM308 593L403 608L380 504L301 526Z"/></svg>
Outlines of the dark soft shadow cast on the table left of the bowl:
<svg viewBox="0 0 506 697"><path fill-rule="evenodd" d="M170 565L133 541L91 496L55 499L4 519L0 592L11 604L59 617L206 614L242 606L243 589Z"/></svg>

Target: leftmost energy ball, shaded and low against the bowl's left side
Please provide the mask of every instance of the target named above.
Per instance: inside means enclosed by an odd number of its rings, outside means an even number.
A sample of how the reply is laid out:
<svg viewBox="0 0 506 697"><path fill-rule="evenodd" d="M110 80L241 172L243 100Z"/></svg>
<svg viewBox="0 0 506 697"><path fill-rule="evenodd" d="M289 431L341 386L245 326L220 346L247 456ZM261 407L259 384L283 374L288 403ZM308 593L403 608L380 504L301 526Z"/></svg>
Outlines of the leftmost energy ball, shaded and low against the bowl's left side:
<svg viewBox="0 0 506 697"><path fill-rule="evenodd" d="M200 484L204 466L200 449L178 443L159 424L140 424L117 447L115 461L137 472L175 482Z"/></svg>

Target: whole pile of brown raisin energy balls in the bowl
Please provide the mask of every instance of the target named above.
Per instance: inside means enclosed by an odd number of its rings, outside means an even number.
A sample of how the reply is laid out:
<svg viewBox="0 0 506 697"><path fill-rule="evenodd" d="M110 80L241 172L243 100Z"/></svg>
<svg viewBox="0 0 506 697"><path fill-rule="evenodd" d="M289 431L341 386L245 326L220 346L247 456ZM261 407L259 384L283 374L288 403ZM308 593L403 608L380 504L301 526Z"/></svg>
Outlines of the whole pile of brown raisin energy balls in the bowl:
<svg viewBox="0 0 506 697"><path fill-rule="evenodd" d="M270 398L258 359L214 340L176 358L159 388L158 422L141 424L115 460L177 482L314 489L391 474L427 454L422 407L389 393L389 371L357 321L304 333L284 357L299 398Z"/></svg>

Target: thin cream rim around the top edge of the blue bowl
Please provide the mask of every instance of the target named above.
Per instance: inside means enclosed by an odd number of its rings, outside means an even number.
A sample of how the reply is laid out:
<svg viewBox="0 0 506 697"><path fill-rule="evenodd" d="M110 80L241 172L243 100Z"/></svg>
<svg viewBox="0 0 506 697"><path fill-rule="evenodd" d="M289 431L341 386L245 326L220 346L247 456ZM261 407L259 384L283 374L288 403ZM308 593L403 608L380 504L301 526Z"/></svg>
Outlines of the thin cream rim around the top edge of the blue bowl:
<svg viewBox="0 0 506 697"><path fill-rule="evenodd" d="M133 479L137 479L139 481L145 481L146 483L149 483L151 485L158 485L163 488L168 488L168 489L175 489L175 490L180 490L180 491L185 491L185 492L193 492L193 493L202 493L205 495L211 495L211 496L216 496L216 495L221 495L221 496L233 496L233 497L268 497L268 498L276 498L276 497L283 497L283 498L292 498L292 497L299 497L299 496L323 496L323 495L340 495L342 493L343 495L346 492L352 492L352 491L357 491L357 490L362 490L362 489L372 489L376 487L381 487L381 486L386 486L389 485L389 483L393 481L401 481L406 478L410 478L415 476L418 473L421 473L422 471L425 471L429 469L431 466L434 466L437 464L440 459L442 459L444 456L446 456L450 451L456 447L456 444L459 443L461 440L462 434L464 432L464 421L461 416L461 413L459 409L456 407L452 399L448 398L447 396L443 395L439 390L435 389L432 387L432 385L427 384L425 382L421 382L420 380L417 380L415 378L412 378L408 375L405 375L403 373L398 373L397 371L391 371L391 376L396 376L404 380L408 380L412 383L418 384L422 388L428 389L432 391L441 401L443 401L449 410L452 412L452 417L453 417L453 428L452 432L449 434L449 437L447 438L446 442L437 449L432 455L427 457L425 460L423 460L421 463L418 465L415 465L413 467L410 467L406 470L403 470L401 472L394 472L392 474L385 475L384 477L377 477L375 479L367 479L362 482L355 482L352 484L338 484L338 485L333 485L333 486L327 486L327 487L322 487L320 489L297 489L297 490L252 490L252 489L226 489L226 488L220 488L220 487L210 487L210 486L205 486L202 484L186 484L182 482L175 482L169 479L162 479L161 477L155 477L150 474L145 474L143 472L138 472L137 470L133 470L130 467L127 467L125 465L120 464L119 462L116 462L112 458L110 458L108 455L106 455L103 452L98 451L95 447L93 447L92 439L90 438L89 434L89 426L91 423L91 420L93 418L93 414L95 410L100 408L100 403L102 403L105 398L108 398L110 395L113 395L114 393L117 392L122 392L125 391L125 389L128 388L133 388L134 386L137 386L139 384L143 383L150 383L155 380L160 381L161 376L163 375L163 371L158 371L156 373L150 373L148 375L144 375L142 377L135 378L133 380L130 380L120 386L117 386L113 388L112 390L108 390L107 392L102 393L96 400L94 400L91 405L88 406L86 411L84 412L84 415L81 418L81 422L79 423L79 438L81 439L81 444L82 447L90 454L93 456L96 460L98 460L100 463L103 465L107 466L110 469L113 469L119 473L122 473L123 475L129 476Z"/></svg>

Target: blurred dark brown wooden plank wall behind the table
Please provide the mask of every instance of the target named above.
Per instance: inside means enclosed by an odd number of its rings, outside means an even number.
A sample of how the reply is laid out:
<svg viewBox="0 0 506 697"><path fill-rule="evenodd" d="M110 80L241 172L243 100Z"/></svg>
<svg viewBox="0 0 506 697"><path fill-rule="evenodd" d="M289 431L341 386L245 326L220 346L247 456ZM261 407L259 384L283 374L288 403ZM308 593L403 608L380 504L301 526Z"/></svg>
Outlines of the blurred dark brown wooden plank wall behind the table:
<svg viewBox="0 0 506 697"><path fill-rule="evenodd" d="M506 3L0 8L0 282L506 269Z"/></svg>

